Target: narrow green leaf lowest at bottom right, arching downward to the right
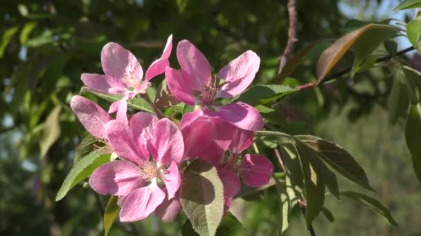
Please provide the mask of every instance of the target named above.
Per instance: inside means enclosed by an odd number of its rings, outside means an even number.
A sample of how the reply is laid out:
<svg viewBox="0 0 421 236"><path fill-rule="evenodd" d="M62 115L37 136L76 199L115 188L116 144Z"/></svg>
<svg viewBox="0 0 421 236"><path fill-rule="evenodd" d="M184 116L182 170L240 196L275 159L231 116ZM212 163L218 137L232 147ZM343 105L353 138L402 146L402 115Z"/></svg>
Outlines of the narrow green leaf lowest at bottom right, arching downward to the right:
<svg viewBox="0 0 421 236"><path fill-rule="evenodd" d="M359 204L363 204L370 210L374 210L377 214L384 217L384 219L386 219L388 224L390 224L391 226L397 226L397 222L395 221L395 219L393 219L389 210L386 207L384 207L381 203L379 203L377 199L374 199L373 197L368 197L362 193L355 193L352 191L341 192L341 195L343 195L344 197L349 197L357 201Z"/></svg>

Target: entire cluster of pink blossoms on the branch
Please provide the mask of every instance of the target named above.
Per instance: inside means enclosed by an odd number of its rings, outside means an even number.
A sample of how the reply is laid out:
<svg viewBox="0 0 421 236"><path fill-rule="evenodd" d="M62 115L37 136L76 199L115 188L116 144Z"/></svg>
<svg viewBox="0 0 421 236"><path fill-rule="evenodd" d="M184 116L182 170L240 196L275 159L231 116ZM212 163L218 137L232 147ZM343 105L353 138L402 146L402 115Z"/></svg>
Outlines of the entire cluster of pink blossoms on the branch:
<svg viewBox="0 0 421 236"><path fill-rule="evenodd" d="M259 112L242 102L220 101L240 95L251 84L260 65L258 55L244 52L213 76L206 57L189 41L178 43L179 70L170 67L171 50L172 35L142 81L136 57L117 43L107 43L101 52L105 75L82 74L82 81L91 90L123 95L122 99L108 112L84 97L71 99L84 128L105 143L107 152L118 155L94 170L89 186L101 195L118 197L121 222L145 219L151 213L164 221L177 217L183 167L193 159L215 166L224 185L225 210L241 188L240 179L259 187L274 171L266 157L244 154L253 144L253 132L263 127ZM163 74L172 95L195 106L195 111L184 114L177 124L147 112L127 115L127 100L147 96L150 79ZM154 106L152 101L150 105ZM116 119L109 115L114 112Z"/></svg>

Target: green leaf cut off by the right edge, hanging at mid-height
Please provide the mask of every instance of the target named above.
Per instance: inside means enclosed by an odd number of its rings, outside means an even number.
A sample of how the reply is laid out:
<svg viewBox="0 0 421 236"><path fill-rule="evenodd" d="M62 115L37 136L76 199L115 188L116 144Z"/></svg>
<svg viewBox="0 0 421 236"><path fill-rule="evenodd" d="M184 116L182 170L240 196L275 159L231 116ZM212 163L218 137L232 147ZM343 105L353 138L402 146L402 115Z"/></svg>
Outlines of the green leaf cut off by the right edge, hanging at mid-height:
<svg viewBox="0 0 421 236"><path fill-rule="evenodd" d="M412 164L418 181L421 181L421 104L411 104L405 128L406 145L412 156Z"/></svg>

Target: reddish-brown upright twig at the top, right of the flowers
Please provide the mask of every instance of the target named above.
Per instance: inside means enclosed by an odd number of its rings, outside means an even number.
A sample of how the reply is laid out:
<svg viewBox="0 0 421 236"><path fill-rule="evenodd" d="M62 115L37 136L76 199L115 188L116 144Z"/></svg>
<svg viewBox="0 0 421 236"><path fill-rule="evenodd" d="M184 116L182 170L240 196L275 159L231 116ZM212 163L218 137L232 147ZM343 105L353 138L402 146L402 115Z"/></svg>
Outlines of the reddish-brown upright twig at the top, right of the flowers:
<svg viewBox="0 0 421 236"><path fill-rule="evenodd" d="M280 56L280 63L278 69L278 75L284 68L285 64L287 63L288 57L292 52L292 48L294 48L294 43L297 41L296 39L296 29L297 29L297 11L296 11L296 0L288 0L288 15L289 15L289 28L288 28L288 41L287 46L285 46L283 55Z"/></svg>

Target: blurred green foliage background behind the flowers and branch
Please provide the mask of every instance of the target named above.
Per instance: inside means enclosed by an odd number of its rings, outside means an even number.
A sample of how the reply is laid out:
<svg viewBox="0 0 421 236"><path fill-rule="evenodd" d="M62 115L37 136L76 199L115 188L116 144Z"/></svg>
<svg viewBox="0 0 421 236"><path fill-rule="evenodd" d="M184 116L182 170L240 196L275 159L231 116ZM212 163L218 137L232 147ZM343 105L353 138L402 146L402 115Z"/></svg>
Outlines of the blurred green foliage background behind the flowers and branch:
<svg viewBox="0 0 421 236"><path fill-rule="evenodd" d="M319 39L337 39L350 19L411 19L411 10L392 12L398 3L300 0L294 52ZM82 86L82 72L102 73L105 43L125 46L144 69L161 55L171 33L174 48L181 39L192 41L215 71L251 49L262 59L256 83L277 83L278 57L287 41L286 6L286 0L0 1L0 235L102 235L101 209L107 197L80 184L62 201L54 199L86 135L69 99ZM409 46L403 37L397 43L399 48ZM292 77L299 83L314 81L323 48L312 52ZM385 50L376 53L384 55ZM420 67L417 55L407 59ZM171 62L177 64L174 54ZM350 65L351 56L339 68ZM421 235L420 184L404 141L404 121L392 126L387 118L392 76L387 66L375 68L353 81L344 76L283 100L303 112L301 124L292 121L288 131L334 140L349 150L366 170L377 199L400 224L391 228L366 208L327 197L334 222L320 215L314 222L317 235ZM154 85L162 79L154 79ZM346 181L340 184L342 190L363 191ZM235 200L233 212L250 235L277 234L273 191L269 188L253 201ZM294 209L287 235L308 234L302 218ZM179 235L185 219L180 215L168 224L151 216L134 224L116 223L110 235Z"/></svg>

